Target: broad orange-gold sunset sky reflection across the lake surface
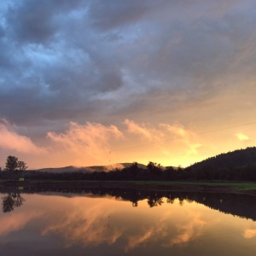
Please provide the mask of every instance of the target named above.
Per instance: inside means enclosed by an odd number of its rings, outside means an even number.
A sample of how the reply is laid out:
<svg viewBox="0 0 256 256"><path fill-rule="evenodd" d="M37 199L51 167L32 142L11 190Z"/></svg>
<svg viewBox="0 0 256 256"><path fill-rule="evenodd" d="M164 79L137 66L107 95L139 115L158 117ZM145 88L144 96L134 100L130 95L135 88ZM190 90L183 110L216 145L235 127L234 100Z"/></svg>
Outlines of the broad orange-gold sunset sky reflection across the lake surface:
<svg viewBox="0 0 256 256"><path fill-rule="evenodd" d="M119 248L119 253L142 249L147 252L151 248L166 252L189 250L207 239L214 246L217 241L212 237L231 241L230 229L234 230L234 237L241 237L241 233L244 238L256 236L251 222L248 222L250 228L244 228L246 219L230 218L229 214L212 211L195 201L183 200L182 204L178 199L162 201L161 206L149 207L145 199L139 201L138 207L131 207L131 201L121 198L115 201L109 195L108 198L26 195L22 207L8 215L0 213L0 236L4 242L17 233L32 232L43 244L57 238L61 241L57 246L63 249L105 247ZM224 225L230 229L223 230ZM29 235L20 236L20 242L26 244L26 236ZM55 239L52 242L51 246L55 246Z"/></svg>

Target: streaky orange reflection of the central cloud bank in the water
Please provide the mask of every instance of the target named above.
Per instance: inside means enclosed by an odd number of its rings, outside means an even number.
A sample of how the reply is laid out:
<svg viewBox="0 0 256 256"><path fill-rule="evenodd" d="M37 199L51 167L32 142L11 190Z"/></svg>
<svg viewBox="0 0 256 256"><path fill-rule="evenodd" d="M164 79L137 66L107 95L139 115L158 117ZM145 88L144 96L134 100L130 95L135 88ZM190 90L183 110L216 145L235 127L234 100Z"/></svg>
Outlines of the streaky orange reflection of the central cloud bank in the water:
<svg viewBox="0 0 256 256"><path fill-rule="evenodd" d="M144 218L138 225L136 219L143 219L144 211L131 215L128 224L122 224L122 219L116 220L109 228L108 216L119 214L120 209L126 209L126 214L129 214L130 205L119 201L122 206L117 206L116 201L101 199L84 201L79 197L73 198L72 204L73 212L67 212L62 218L55 218L54 222L41 232L43 236L57 234L63 237L67 247L78 243L84 246L102 243L111 245L118 239L124 242L125 252L149 243L172 247L195 240L202 235L203 229L211 224L206 215L202 216L190 207L184 206L182 212L177 211L177 208L180 210L180 206L179 202L175 201L172 207L166 205L163 211L158 212L160 214L150 216L149 212L148 218ZM173 218L176 219L175 223L172 222Z"/></svg>

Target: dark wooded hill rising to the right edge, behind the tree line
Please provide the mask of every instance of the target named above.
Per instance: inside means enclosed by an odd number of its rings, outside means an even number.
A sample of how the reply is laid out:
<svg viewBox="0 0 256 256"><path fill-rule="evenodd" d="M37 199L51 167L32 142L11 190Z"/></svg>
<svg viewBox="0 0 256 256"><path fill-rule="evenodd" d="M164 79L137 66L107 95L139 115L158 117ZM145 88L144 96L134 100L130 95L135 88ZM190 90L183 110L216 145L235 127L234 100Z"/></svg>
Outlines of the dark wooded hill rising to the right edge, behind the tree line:
<svg viewBox="0 0 256 256"><path fill-rule="evenodd" d="M256 165L256 147L238 149L225 154L218 154L210 157L207 160L195 163L189 166L192 170L200 170L205 168L230 169L235 167L244 167Z"/></svg>

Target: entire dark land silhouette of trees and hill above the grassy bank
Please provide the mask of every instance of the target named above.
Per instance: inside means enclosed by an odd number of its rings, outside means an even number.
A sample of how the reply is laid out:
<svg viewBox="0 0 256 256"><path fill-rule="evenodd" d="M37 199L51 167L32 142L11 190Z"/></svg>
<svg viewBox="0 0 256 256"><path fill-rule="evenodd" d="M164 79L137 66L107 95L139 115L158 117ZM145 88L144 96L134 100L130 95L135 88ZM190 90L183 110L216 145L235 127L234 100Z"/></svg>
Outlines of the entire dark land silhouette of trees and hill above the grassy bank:
<svg viewBox="0 0 256 256"><path fill-rule="evenodd" d="M256 148L240 149L227 154L195 163L192 166L181 168L161 166L158 163L148 162L146 168L140 167L137 162L124 169L114 169L110 172L37 172L25 171L26 163L15 156L9 156L5 170L0 172L0 178L11 178L17 175L33 179L60 179L60 180L234 180L256 181ZM20 172L13 172L13 171Z"/></svg>

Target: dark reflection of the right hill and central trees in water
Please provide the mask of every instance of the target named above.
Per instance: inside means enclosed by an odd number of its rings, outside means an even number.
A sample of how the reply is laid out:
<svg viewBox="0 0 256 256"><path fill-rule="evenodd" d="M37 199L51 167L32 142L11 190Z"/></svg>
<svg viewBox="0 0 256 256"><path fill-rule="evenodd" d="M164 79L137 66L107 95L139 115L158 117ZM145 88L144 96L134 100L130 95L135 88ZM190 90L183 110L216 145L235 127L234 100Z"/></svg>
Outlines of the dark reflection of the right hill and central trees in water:
<svg viewBox="0 0 256 256"><path fill-rule="evenodd" d="M89 190L89 189L88 189ZM86 189L83 193L88 192ZM133 207L139 202L147 200L149 207L161 206L166 203L173 204L176 200L182 207L185 203L197 202L217 209L219 212L230 213L241 218L251 218L256 221L255 196L223 193L177 192L177 191L148 191L137 189L91 189L90 195L111 195L125 201L131 201Z"/></svg>

